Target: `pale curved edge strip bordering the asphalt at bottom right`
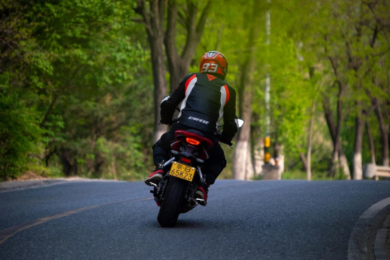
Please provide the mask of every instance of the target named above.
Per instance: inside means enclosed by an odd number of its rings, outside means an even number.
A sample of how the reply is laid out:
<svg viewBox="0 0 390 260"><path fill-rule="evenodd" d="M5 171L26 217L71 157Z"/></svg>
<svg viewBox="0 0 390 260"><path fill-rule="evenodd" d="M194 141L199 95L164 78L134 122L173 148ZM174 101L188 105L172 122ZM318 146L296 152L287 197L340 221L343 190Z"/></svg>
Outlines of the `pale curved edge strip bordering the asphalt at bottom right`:
<svg viewBox="0 0 390 260"><path fill-rule="evenodd" d="M354 228L352 229L351 235L348 241L348 260L366 259L367 254L367 239L363 239L359 243L358 238L361 237L369 229L368 221L373 219L381 210L390 205L390 197L375 203L368 208L359 217Z"/></svg>

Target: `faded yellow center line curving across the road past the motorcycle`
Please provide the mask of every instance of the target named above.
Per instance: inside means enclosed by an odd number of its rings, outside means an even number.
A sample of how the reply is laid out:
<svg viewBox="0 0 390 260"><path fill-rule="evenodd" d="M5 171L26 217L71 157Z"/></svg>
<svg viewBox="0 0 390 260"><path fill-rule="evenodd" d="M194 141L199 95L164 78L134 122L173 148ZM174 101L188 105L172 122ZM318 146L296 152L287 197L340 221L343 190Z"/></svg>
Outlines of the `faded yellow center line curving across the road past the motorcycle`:
<svg viewBox="0 0 390 260"><path fill-rule="evenodd" d="M247 184L247 183L251 183L251 182L250 181L248 181L248 182L240 182L240 183L235 183L235 184L228 184L228 185L223 185L223 186L217 186L215 188L224 188L224 187L228 187L228 186L236 186L236 185L242 185L242 184ZM111 202L111 203L106 203L106 204L92 205L92 206L89 206L89 207L75 209L75 210L68 210L68 211L65 211L65 212L53 215L53 216L32 220L32 221L29 221L29 222L26 222L26 223L23 223L23 224L20 224L20 225L16 225L16 226L13 226L13 227L10 227L10 228L7 228L7 229L4 229L4 230L0 231L0 245L5 240L7 240L11 236L15 235L16 233L18 233L18 232L20 232L22 230L34 227L36 225L39 225L39 224L42 224L42 223L45 223L45 222L48 222L48 221L51 221L51 220L63 218L63 217L66 217L66 216L69 216L69 215L72 215L72 214L75 214L75 213L78 213L78 212L94 209L94 208L97 208L97 207L114 205L114 204L120 204L120 203L129 203L129 202L143 201L143 200L151 200L153 198L154 197L149 197L149 198L136 199L136 200L124 200L124 201Z"/></svg>

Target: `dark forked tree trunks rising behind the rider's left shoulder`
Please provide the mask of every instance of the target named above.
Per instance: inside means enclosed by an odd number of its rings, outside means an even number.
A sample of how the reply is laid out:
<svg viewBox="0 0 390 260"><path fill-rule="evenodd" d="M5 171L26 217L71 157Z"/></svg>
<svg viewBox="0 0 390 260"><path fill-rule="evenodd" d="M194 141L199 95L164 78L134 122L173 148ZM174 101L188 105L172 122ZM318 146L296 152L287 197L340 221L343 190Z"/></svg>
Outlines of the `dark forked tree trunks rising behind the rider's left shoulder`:
<svg viewBox="0 0 390 260"><path fill-rule="evenodd" d="M187 26L187 40L183 53L179 56L176 49L176 23L178 19L178 5L176 0L169 0L167 30L165 32L165 9L168 0L150 1L149 7L145 6L145 0L137 0L135 12L143 18L148 41L151 49L151 61L153 69L154 83L154 141L157 142L161 135L166 132L165 125L160 125L160 102L167 95L167 82L165 81L166 66L164 61L164 44L168 59L168 69L170 72L171 91L176 88L184 78L195 54L197 44L203 33L203 28L207 14L209 12L211 0L208 0L198 22L197 6L194 1L188 1L187 17L183 21Z"/></svg>

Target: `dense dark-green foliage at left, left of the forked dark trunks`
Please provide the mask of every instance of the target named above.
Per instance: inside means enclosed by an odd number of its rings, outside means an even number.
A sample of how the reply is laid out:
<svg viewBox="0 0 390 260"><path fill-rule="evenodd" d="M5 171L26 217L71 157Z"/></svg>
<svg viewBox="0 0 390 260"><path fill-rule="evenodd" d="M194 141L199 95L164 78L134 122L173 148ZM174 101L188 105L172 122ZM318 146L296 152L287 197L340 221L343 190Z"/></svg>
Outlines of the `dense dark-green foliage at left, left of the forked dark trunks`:
<svg viewBox="0 0 390 260"><path fill-rule="evenodd" d="M142 93L132 82L148 53L132 35L138 27L131 22L131 5L110 0L5 1L1 15L0 33L11 37L1 45L7 66L0 70L0 178L32 168L51 175L48 168L34 166L42 158L47 164L60 160L75 168L76 161L107 154L101 140L111 145L116 138L112 129L120 132L129 123L129 109L136 106L128 105L138 101L131 95ZM124 155L143 158L134 152L134 140L126 138L129 147L121 150L114 140L112 149L122 160ZM88 153L79 149L92 142L99 145ZM126 153L124 148L133 150ZM64 155L69 150L75 158ZM136 160L131 166L140 164Z"/></svg>

